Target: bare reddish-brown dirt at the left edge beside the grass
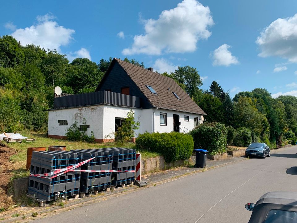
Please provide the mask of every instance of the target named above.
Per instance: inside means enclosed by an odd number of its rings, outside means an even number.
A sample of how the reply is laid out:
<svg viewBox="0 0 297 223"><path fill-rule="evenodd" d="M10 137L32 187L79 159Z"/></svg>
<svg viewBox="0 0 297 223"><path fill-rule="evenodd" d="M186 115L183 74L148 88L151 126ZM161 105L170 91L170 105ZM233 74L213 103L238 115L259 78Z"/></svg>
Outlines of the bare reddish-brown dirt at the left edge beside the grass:
<svg viewBox="0 0 297 223"><path fill-rule="evenodd" d="M12 196L8 195L7 190L13 169L9 157L15 153L15 149L8 148L0 143L0 208L8 208L13 204Z"/></svg>

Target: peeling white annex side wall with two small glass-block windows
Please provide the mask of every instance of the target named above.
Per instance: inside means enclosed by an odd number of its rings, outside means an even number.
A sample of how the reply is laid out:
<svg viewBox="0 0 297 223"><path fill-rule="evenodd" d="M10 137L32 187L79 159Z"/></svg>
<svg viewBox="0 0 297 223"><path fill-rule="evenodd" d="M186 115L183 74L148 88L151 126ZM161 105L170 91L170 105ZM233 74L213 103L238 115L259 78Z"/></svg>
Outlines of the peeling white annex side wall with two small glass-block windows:
<svg viewBox="0 0 297 223"><path fill-rule="evenodd" d="M49 111L48 134L65 136L66 129L72 125L74 121L78 125L83 125L84 118L85 125L90 125L87 134L90 135L91 131L94 132L95 138L102 137L103 125L103 107L104 105L67 108ZM58 120L67 120L67 125L59 125Z"/></svg>

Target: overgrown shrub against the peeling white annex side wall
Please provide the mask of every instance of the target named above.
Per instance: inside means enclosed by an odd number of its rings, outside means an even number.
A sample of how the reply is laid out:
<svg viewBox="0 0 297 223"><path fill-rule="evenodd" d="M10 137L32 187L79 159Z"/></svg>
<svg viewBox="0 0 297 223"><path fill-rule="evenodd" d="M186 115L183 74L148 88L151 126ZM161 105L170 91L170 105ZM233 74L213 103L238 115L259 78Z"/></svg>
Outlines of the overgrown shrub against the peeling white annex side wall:
<svg viewBox="0 0 297 223"><path fill-rule="evenodd" d="M83 122L85 125L85 121ZM80 126L78 125L78 122L75 121L72 123L72 125L69 126L69 128L66 129L65 135L67 136L67 140L71 141L78 141L78 142L95 142L95 137L93 131L91 132L91 135L88 136L86 131L80 131Z"/></svg>

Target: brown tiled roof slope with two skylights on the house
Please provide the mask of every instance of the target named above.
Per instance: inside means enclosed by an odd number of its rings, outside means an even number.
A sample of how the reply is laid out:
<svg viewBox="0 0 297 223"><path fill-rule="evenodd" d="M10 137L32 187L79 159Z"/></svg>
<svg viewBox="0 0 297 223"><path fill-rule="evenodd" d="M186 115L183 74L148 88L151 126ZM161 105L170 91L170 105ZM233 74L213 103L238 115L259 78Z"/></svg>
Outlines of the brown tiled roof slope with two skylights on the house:
<svg viewBox="0 0 297 223"><path fill-rule="evenodd" d="M154 107L206 115L172 78L117 58L114 58L114 60L127 72L132 81L135 82ZM146 85L152 86L157 94L151 93ZM172 92L176 93L181 100L178 100Z"/></svg>

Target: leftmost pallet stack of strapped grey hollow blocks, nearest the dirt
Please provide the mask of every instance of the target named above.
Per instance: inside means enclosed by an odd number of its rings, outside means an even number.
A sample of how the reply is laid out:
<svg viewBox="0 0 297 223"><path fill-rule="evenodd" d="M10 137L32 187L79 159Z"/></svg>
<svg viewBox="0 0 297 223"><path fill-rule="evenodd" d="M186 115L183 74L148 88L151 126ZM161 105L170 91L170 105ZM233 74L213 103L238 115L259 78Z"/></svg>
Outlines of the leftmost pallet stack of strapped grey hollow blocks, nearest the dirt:
<svg viewBox="0 0 297 223"><path fill-rule="evenodd" d="M68 151L33 151L30 173L43 174L81 162L82 157ZM80 169L80 168L78 168ZM45 201L79 194L80 173L68 172L52 179L29 177L28 194Z"/></svg>

